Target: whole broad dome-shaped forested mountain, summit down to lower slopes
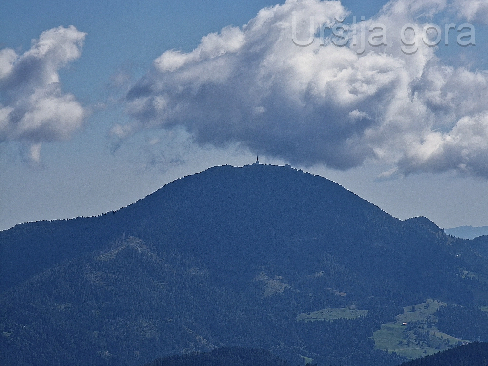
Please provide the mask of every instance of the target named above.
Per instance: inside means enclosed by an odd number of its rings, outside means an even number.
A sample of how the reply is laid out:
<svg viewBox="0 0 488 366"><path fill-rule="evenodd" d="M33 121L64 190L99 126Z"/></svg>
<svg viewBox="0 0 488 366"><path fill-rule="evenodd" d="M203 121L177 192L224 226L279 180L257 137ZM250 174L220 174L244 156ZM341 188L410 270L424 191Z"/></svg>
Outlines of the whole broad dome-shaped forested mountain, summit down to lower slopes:
<svg viewBox="0 0 488 366"><path fill-rule="evenodd" d="M244 346L291 365L395 365L373 332L427 296L480 311L486 247L323 177L214 167L116 212L0 232L0 364L141 365ZM346 306L362 312L298 318Z"/></svg>

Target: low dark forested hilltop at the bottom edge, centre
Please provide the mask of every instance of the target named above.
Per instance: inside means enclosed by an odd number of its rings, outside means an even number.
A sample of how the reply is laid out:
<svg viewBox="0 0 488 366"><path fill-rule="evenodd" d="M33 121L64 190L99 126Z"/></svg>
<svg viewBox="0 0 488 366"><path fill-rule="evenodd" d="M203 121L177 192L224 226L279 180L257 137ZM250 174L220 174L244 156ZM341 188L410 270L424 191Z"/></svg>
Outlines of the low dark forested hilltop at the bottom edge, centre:
<svg viewBox="0 0 488 366"><path fill-rule="evenodd" d="M264 349L225 347L212 352L175 355L157 359L144 366L290 366Z"/></svg>

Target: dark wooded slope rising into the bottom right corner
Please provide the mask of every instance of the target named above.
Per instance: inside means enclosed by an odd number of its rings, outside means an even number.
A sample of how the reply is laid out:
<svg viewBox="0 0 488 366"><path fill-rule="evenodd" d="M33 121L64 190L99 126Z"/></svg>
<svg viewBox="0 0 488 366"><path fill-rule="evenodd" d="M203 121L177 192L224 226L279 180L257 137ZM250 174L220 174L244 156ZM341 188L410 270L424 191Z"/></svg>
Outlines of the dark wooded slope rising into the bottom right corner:
<svg viewBox="0 0 488 366"><path fill-rule="evenodd" d="M488 366L488 343L473 342L406 362L402 366Z"/></svg>

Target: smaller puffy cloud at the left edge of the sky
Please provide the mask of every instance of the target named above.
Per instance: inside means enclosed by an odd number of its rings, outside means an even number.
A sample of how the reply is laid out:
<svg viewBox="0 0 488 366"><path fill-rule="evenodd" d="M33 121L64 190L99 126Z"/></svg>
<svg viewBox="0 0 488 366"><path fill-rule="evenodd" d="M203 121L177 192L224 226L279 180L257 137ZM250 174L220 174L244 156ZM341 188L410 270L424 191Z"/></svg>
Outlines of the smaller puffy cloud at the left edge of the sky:
<svg viewBox="0 0 488 366"><path fill-rule="evenodd" d="M86 111L61 91L58 70L81 56L85 33L74 26L42 32L22 55L0 50L0 142L26 146L39 163L41 144L69 139Z"/></svg>

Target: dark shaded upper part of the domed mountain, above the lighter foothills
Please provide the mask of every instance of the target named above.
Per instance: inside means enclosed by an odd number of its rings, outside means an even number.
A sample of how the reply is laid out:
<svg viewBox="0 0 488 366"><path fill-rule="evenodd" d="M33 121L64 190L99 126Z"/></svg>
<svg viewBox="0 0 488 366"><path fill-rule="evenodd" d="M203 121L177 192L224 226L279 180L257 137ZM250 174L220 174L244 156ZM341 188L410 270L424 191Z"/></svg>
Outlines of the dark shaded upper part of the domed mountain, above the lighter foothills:
<svg viewBox="0 0 488 366"><path fill-rule="evenodd" d="M220 166L169 183L116 212L0 232L0 289L123 234L205 258L223 281L245 278L269 261L303 268L317 250L340 256L360 272L403 282L415 265L418 271L405 284L412 288L425 287L424 276L432 271L485 265L469 244L453 240L429 220L402 222L325 178L281 166ZM462 257L456 259L457 254ZM435 269L426 256L438 259ZM439 286L432 291L449 288Z"/></svg>

